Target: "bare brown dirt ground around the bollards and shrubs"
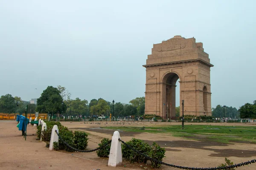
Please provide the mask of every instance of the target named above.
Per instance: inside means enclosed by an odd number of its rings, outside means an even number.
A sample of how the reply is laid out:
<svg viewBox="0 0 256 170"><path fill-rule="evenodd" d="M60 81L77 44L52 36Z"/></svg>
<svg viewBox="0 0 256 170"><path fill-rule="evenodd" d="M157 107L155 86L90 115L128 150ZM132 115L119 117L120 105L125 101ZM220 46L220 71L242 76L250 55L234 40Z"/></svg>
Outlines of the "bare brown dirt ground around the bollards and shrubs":
<svg viewBox="0 0 256 170"><path fill-rule="evenodd" d="M98 147L104 137L111 138L114 130L101 129L105 126L131 126L131 127L156 127L180 125L176 122L61 122L70 130L83 130L89 133L87 149ZM198 123L189 123L198 125ZM200 123L200 125L231 125L228 123ZM2 170L113 170L108 167L108 158L98 158L93 153L70 153L66 151L50 151L44 142L36 140L36 127L27 128L27 140L21 136L21 131L16 127L16 121L0 121L0 169ZM256 124L233 123L234 126L255 126ZM195 141L174 137L169 133L134 133L119 131L121 139L128 141L135 137L143 139L149 144L157 142L166 148L164 162L188 167L217 167L224 163L227 157L238 164L256 159L256 144ZM140 165L150 168L148 164L129 164L123 161L122 167L115 169L141 169ZM124 167L125 165L125 167ZM144 168L143 168L144 169ZM162 165L160 170L176 170L176 168ZM256 170L256 163L237 168L238 170Z"/></svg>

